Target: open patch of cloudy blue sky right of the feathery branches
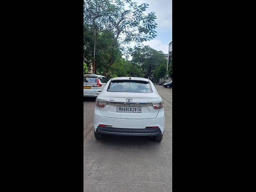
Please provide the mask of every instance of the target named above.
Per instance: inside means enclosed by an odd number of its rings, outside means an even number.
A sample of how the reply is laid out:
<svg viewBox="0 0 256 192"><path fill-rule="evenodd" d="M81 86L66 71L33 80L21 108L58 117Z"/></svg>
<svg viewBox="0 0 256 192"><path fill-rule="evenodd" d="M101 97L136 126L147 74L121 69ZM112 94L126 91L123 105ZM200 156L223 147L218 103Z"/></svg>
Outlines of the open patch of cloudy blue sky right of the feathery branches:
<svg viewBox="0 0 256 192"><path fill-rule="evenodd" d="M138 5L148 3L149 8L146 13L155 12L157 17L157 37L143 44L167 54L168 44L172 41L172 0L133 0L133 2L137 2Z"/></svg>

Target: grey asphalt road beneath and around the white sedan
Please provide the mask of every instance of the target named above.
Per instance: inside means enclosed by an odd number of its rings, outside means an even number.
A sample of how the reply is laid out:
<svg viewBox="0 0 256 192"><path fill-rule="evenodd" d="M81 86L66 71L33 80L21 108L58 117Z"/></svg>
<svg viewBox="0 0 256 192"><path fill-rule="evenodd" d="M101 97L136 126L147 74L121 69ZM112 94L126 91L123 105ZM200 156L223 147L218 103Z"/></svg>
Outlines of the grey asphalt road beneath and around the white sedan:
<svg viewBox="0 0 256 192"><path fill-rule="evenodd" d="M172 191L172 89L155 86L164 100L162 142L136 136L96 140L95 99L84 99L84 192Z"/></svg>

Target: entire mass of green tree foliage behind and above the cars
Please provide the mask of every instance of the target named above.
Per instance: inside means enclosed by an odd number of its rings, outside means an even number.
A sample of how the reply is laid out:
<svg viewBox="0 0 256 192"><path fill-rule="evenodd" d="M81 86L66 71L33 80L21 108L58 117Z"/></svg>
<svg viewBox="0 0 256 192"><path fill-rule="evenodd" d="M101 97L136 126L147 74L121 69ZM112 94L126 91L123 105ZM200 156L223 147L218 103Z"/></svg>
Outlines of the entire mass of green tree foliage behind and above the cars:
<svg viewBox="0 0 256 192"><path fill-rule="evenodd" d="M153 72L157 77L166 73L167 61L163 52L141 45L157 36L156 15L154 12L145 13L148 6L132 0L84 1L84 62L87 71L92 68L95 40L96 74L108 78L148 78ZM131 42L136 42L136 46L126 47ZM122 54L131 54L132 62L122 58ZM172 62L169 69L172 73Z"/></svg>

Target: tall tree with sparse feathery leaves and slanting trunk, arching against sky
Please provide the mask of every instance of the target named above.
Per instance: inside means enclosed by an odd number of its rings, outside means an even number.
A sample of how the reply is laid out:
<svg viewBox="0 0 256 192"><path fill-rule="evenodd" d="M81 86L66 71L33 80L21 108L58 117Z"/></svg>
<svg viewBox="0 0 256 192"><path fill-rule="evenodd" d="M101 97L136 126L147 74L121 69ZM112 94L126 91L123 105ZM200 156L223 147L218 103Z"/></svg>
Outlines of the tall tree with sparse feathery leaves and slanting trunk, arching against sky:
<svg viewBox="0 0 256 192"><path fill-rule="evenodd" d="M125 4L130 5L128 9ZM98 36L99 32L103 31L113 33L110 54L105 55L108 57L106 68L114 63L117 49L125 51L123 43L136 42L139 46L140 43L156 37L155 13L144 14L148 6L146 3L137 5L131 0L84 1L84 26L90 35ZM120 37L121 34L123 38ZM131 51L132 49L129 49L126 54Z"/></svg>

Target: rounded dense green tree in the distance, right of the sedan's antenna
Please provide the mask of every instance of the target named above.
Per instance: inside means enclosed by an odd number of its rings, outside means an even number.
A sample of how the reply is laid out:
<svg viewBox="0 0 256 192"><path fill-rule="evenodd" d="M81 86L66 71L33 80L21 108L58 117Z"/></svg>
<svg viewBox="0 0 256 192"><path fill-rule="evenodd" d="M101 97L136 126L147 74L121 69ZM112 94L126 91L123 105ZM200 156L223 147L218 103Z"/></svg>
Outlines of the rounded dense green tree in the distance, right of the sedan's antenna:
<svg viewBox="0 0 256 192"><path fill-rule="evenodd" d="M156 66L166 63L162 51L154 50L150 46L143 48L135 48L132 53L132 63L140 66L144 72L144 77L148 78L152 75Z"/></svg>

